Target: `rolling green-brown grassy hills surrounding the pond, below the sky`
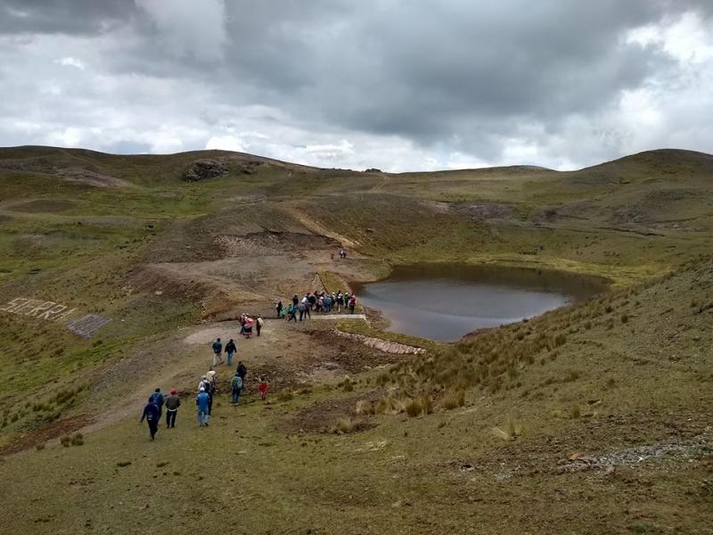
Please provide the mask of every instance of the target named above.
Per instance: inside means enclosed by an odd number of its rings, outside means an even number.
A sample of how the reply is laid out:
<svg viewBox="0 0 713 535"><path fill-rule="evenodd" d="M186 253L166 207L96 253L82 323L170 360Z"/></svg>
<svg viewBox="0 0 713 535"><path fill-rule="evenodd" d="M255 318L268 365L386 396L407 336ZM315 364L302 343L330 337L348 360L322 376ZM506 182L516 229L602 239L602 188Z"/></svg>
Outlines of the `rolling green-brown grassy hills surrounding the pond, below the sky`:
<svg viewBox="0 0 713 535"><path fill-rule="evenodd" d="M184 181L207 160L222 174ZM225 532L237 507L252 532L705 532L711 177L713 156L684 151L384 174L0 149L0 521ZM347 261L330 257L340 246ZM422 356L271 322L240 350L253 381L272 379L270 402L250 383L244 407L223 395L213 425L189 426L209 342L235 336L211 322L420 261L559 268L612 289L455 344L341 324ZM67 328L92 314L111 322ZM186 397L151 443L135 412L155 385Z"/></svg>

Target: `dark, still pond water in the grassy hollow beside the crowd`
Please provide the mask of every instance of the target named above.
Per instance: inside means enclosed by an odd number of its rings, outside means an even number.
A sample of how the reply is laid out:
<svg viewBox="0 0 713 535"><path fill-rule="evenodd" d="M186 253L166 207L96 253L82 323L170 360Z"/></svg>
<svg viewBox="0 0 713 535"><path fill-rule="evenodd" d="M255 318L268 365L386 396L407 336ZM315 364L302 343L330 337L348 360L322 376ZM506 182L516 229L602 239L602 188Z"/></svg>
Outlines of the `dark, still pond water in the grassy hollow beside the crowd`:
<svg viewBox="0 0 713 535"><path fill-rule="evenodd" d="M527 268L422 264L354 284L362 305L380 309L389 331L454 342L476 329L538 316L602 292L602 279Z"/></svg>

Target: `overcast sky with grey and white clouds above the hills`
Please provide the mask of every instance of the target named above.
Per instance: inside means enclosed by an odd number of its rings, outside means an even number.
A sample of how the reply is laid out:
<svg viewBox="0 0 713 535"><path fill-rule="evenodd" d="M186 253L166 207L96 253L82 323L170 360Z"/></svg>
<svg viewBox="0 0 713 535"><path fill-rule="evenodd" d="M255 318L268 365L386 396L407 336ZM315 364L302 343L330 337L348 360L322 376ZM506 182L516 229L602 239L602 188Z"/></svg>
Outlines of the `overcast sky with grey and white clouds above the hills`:
<svg viewBox="0 0 713 535"><path fill-rule="evenodd" d="M0 145L390 171L713 152L713 0L0 0Z"/></svg>

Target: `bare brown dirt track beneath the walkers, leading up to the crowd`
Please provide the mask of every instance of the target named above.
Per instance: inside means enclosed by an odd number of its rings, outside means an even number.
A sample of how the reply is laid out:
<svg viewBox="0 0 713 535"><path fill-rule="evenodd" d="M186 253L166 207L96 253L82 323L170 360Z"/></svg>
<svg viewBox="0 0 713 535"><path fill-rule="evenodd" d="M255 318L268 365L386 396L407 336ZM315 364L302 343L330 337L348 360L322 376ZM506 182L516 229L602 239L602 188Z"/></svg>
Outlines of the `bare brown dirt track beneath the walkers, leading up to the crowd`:
<svg viewBox="0 0 713 535"><path fill-rule="evenodd" d="M238 334L237 322L219 322L178 329L156 337L97 372L84 407L96 407L80 415L58 420L0 451L0 456L30 449L39 442L56 443L69 432L89 433L119 420L141 414L146 399L156 387L168 392L176 388L186 399L185 413L193 414L195 388L212 364L211 344L231 338L238 351L233 366L216 366L218 396L228 392L227 384L239 360L248 366L244 395L257 392L258 376L266 377L271 391L297 389L356 374L377 366L387 366L403 356L366 347L332 333L329 320L305 320L288 324L267 319L258 337ZM139 378L138 381L136 378Z"/></svg>

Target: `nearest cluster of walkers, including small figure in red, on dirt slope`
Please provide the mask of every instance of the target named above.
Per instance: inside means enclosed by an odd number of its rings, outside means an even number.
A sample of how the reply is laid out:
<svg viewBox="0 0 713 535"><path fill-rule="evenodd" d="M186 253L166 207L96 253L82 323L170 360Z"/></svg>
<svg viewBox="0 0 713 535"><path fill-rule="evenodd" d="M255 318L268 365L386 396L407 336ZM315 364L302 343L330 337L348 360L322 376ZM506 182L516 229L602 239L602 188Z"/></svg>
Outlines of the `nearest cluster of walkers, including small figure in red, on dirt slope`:
<svg viewBox="0 0 713 535"><path fill-rule="evenodd" d="M245 377L248 374L248 367L238 361L238 367L235 369L235 374L228 383L233 406L237 406L243 389L245 388ZM265 377L258 377L258 393L260 399L267 398L267 390L269 382ZM201 377L198 383L198 392L195 397L196 417L199 427L208 427L210 416L213 412L213 399L217 392L217 372L211 367L205 375ZM166 428L171 429L176 427L176 416L178 415L178 407L181 406L181 399L175 388L172 388L168 396L164 396L160 388L152 392L149 401L145 407L139 424L143 424L143 420L149 424L149 433L151 440L154 440L156 433L159 431L161 416L163 409L166 408Z"/></svg>

